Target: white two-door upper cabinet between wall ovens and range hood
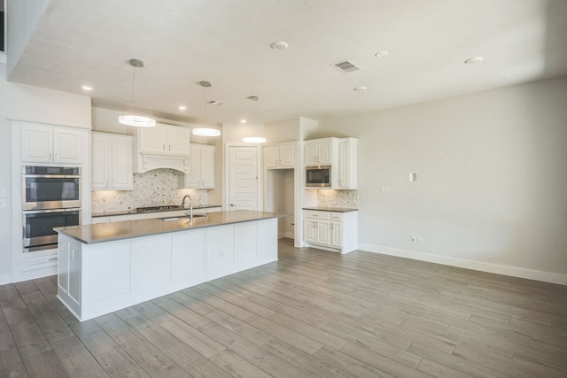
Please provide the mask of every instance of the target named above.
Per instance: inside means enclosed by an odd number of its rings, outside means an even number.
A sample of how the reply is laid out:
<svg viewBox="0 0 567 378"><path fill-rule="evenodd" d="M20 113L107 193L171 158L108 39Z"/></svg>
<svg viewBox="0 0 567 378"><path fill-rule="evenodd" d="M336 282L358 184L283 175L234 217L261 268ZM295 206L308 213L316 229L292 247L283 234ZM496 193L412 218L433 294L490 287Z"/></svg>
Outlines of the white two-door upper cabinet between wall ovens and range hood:
<svg viewBox="0 0 567 378"><path fill-rule="evenodd" d="M92 189L133 189L132 137L92 133Z"/></svg>

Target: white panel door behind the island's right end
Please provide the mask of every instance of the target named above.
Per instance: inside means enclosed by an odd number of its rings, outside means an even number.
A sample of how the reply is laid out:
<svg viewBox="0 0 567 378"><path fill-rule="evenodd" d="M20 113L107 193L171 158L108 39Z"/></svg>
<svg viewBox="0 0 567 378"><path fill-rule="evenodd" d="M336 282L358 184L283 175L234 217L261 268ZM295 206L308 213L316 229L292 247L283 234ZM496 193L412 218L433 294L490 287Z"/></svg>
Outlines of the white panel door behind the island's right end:
<svg viewBox="0 0 567 378"><path fill-rule="evenodd" d="M258 210L258 148L229 146L229 210Z"/></svg>

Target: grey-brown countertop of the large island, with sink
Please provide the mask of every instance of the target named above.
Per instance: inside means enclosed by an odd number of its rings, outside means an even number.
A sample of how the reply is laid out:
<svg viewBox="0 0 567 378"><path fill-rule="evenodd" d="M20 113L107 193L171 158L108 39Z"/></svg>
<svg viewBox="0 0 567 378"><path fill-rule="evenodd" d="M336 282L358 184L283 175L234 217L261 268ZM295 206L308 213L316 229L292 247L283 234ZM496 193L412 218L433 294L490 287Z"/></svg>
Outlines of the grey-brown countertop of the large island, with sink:
<svg viewBox="0 0 567 378"><path fill-rule="evenodd" d="M97 223L92 225L70 226L55 228L55 230L70 236L81 243L104 243L133 237L167 234L170 232L194 228L208 228L230 223L240 223L252 220L267 220L285 216L278 212L254 212L237 210L233 212L210 212L208 217L195 217L190 225L189 218L176 220L125 220L120 222Z"/></svg>

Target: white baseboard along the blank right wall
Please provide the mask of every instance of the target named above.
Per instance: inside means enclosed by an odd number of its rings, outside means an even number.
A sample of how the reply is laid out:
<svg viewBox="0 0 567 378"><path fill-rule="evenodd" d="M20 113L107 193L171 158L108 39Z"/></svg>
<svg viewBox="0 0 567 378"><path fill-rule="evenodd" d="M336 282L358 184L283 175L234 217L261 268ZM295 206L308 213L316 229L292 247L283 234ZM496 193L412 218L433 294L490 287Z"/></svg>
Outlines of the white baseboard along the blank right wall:
<svg viewBox="0 0 567 378"><path fill-rule="evenodd" d="M397 256L399 258L412 258L415 260L427 261L430 263L437 263L447 266L463 267L466 269L478 270L481 272L503 274L512 277L526 278L528 280L567 285L567 274L542 272L539 270L524 269L516 266L501 266L497 264L467 260L463 258L449 258L447 256L433 255L430 253L423 253L418 251L400 250L397 248L383 247L380 245L368 243L359 243L358 249L361 251Z"/></svg>

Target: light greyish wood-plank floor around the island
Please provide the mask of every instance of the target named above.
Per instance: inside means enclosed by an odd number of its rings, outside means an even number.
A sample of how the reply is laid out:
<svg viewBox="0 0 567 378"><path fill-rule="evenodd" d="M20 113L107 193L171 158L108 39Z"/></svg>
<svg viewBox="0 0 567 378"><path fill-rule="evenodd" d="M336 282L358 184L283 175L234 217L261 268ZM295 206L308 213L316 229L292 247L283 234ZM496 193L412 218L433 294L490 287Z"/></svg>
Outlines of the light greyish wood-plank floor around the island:
<svg viewBox="0 0 567 378"><path fill-rule="evenodd" d="M567 377L567 287L363 251L279 261L82 323L0 286L0 377Z"/></svg>

